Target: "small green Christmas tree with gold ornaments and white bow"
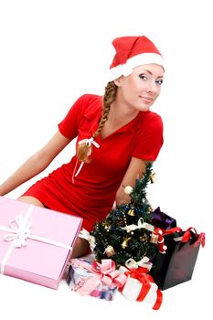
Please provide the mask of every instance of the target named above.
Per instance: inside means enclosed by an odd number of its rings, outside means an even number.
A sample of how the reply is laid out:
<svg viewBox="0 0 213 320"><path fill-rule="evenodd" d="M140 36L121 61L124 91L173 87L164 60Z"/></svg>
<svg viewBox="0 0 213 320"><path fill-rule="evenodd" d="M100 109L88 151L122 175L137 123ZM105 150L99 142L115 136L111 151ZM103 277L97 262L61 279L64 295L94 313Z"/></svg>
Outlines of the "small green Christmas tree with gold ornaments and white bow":
<svg viewBox="0 0 213 320"><path fill-rule="evenodd" d="M153 177L152 164L147 163L142 179L136 179L134 187L124 188L131 201L112 209L106 219L95 224L91 237L98 261L111 258L119 267L131 258L141 261L145 256L154 257L158 237L153 232L153 210L146 198L146 187Z"/></svg>

